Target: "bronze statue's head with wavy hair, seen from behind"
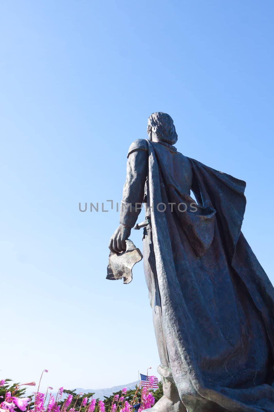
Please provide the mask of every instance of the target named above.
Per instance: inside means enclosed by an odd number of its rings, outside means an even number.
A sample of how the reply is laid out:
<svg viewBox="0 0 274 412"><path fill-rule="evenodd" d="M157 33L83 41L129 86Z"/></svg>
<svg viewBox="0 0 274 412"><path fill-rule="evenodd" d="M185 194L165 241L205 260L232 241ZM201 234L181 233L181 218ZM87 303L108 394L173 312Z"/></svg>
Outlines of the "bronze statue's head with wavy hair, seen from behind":
<svg viewBox="0 0 274 412"><path fill-rule="evenodd" d="M151 141L166 142L174 145L178 136L173 124L173 119L167 113L156 112L147 120L147 134Z"/></svg>

